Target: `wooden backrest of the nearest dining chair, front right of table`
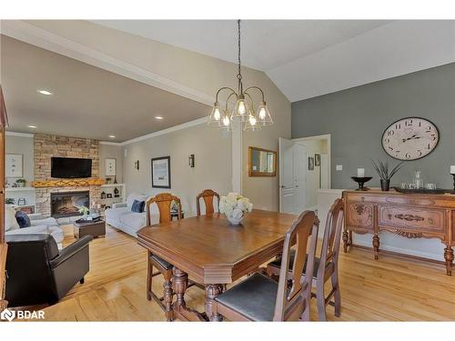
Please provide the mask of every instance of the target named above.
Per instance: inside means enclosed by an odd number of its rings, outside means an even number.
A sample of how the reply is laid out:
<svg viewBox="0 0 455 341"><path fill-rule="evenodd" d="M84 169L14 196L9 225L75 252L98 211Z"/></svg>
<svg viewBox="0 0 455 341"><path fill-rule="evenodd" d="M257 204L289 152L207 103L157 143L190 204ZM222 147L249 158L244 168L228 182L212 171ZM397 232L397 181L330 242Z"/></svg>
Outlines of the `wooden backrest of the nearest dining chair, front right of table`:
<svg viewBox="0 0 455 341"><path fill-rule="evenodd" d="M298 319L304 308L304 301L311 295L311 276L305 276L302 282L302 271L307 262L307 271L314 269L314 258L318 240L319 219L313 211L305 211L292 224L285 236L281 268L279 272L277 301L275 303L274 321ZM310 238L311 236L311 238ZM309 239L309 249L307 250ZM288 271L290 248L296 242L296 254L292 271ZM308 261L307 261L308 252ZM288 282L291 287L288 290Z"/></svg>

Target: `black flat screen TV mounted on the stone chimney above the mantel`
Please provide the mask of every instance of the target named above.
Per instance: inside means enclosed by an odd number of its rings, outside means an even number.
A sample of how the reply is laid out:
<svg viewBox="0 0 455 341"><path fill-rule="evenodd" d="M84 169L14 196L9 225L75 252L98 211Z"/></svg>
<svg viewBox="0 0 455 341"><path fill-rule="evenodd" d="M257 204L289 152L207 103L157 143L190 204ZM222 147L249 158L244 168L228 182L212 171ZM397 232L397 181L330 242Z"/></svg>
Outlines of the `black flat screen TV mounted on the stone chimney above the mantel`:
<svg viewBox="0 0 455 341"><path fill-rule="evenodd" d="M92 160L89 158L52 157L51 176L73 179L92 176Z"/></svg>

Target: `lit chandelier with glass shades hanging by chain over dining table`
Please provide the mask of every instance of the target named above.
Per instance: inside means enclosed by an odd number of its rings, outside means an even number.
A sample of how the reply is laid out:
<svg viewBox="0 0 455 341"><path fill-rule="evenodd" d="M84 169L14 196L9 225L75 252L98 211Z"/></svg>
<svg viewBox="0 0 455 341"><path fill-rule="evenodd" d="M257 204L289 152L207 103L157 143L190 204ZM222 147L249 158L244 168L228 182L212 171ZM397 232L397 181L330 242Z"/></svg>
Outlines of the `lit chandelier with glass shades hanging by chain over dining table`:
<svg viewBox="0 0 455 341"><path fill-rule="evenodd" d="M212 107L210 115L208 116L208 125L217 127L222 131L231 131L235 122L243 125L244 130L256 131L263 125L272 125L272 116L268 111L268 106L265 101L264 92L258 86L248 86L243 89L242 74L240 70L240 20L238 23L238 91L236 92L228 86L221 87L217 91L215 104ZM249 94L256 91L261 95L261 101L258 105L256 112L254 111L255 105L253 97ZM218 95L222 92L227 93L226 105L224 108L218 102ZM229 101L234 104L234 109L229 112Z"/></svg>

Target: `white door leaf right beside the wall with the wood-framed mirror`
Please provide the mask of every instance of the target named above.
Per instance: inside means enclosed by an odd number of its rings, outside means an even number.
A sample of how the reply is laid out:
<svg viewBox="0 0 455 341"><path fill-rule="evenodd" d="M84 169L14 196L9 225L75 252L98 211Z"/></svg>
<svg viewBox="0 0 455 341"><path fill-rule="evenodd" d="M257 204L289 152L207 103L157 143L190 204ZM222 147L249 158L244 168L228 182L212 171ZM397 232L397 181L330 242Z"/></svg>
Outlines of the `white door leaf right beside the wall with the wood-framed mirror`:
<svg viewBox="0 0 455 341"><path fill-rule="evenodd" d="M279 159L279 212L294 211L294 142L285 138L278 139Z"/></svg>

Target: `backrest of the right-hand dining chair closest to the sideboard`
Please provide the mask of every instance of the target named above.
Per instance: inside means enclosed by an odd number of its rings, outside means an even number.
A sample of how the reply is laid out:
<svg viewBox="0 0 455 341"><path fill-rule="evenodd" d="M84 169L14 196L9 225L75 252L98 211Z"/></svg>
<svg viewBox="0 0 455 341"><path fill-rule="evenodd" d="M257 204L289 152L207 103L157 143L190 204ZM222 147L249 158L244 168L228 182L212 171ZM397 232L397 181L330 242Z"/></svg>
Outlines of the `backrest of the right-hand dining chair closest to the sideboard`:
<svg viewBox="0 0 455 341"><path fill-rule="evenodd" d="M327 214L326 227L324 229L324 239L320 250L320 268L324 271L324 266L329 262L337 262L339 257L339 244L341 242L341 230L344 224L343 200L337 199L332 204Z"/></svg>

